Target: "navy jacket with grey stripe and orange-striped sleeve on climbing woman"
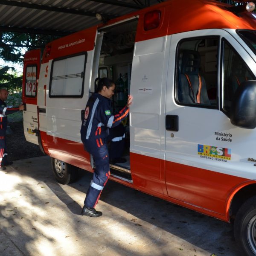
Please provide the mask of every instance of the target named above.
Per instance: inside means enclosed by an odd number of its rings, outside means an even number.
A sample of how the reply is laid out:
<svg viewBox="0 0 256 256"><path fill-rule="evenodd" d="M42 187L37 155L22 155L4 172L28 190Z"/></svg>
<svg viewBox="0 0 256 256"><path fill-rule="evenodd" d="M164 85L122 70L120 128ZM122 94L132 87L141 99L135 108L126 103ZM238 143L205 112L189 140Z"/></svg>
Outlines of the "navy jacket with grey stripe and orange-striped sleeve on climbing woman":
<svg viewBox="0 0 256 256"><path fill-rule="evenodd" d="M119 125L126 116L129 108L124 107L118 114L111 113L111 100L93 93L90 96L84 113L84 120L81 125L81 140L86 143L90 139L104 139L108 136L108 128Z"/></svg>

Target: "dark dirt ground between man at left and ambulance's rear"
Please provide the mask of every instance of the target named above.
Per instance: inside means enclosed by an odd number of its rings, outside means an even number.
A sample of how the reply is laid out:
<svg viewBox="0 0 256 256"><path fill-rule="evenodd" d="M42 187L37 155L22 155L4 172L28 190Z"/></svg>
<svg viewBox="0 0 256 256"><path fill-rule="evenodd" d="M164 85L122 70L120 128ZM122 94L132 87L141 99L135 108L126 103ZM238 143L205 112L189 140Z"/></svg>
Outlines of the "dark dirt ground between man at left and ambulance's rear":
<svg viewBox="0 0 256 256"><path fill-rule="evenodd" d="M44 154L38 145L27 142L24 136L23 122L9 122L12 134L6 135L8 160L15 161L30 157L39 157Z"/></svg>

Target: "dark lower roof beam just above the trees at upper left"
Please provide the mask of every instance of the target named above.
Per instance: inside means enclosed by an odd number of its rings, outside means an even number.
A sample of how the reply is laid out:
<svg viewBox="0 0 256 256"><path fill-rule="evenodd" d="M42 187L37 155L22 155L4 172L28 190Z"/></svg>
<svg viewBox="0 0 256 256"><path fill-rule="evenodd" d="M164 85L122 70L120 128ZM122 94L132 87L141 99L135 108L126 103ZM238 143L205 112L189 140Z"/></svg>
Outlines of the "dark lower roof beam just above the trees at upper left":
<svg viewBox="0 0 256 256"><path fill-rule="evenodd" d="M17 28L9 26L0 26L0 32L18 32L18 33L30 33L38 35L69 35L71 32L45 30L45 29L27 29L27 28Z"/></svg>

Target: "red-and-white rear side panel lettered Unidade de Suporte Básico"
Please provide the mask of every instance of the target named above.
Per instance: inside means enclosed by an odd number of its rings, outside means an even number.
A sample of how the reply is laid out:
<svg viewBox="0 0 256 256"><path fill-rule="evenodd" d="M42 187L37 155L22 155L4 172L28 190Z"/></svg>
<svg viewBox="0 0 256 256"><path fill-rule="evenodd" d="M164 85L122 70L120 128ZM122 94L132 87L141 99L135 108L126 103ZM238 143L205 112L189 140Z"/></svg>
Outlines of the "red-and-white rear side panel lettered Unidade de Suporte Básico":
<svg viewBox="0 0 256 256"><path fill-rule="evenodd" d="M75 166L81 166L87 158L80 128L89 88L94 83L96 30L95 26L52 41L49 62L43 69L47 73L45 85L41 84L44 91L41 91L41 105L38 106L44 110L40 131L45 129L45 148L51 157Z"/></svg>

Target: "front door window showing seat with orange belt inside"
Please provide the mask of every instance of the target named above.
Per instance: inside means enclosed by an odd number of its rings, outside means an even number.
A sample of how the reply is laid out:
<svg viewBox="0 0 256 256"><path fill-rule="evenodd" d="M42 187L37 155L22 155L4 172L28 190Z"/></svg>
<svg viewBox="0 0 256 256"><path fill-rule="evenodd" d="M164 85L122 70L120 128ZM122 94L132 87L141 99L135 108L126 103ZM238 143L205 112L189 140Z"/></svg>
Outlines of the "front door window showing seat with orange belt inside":
<svg viewBox="0 0 256 256"><path fill-rule="evenodd" d="M217 108L218 37L180 41L177 51L176 102Z"/></svg>

